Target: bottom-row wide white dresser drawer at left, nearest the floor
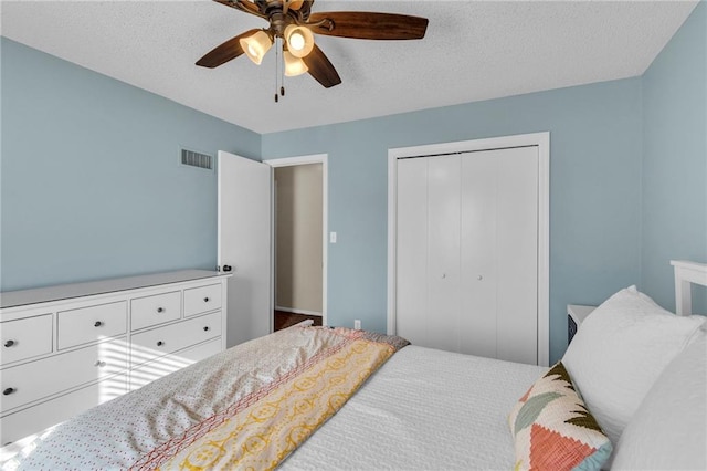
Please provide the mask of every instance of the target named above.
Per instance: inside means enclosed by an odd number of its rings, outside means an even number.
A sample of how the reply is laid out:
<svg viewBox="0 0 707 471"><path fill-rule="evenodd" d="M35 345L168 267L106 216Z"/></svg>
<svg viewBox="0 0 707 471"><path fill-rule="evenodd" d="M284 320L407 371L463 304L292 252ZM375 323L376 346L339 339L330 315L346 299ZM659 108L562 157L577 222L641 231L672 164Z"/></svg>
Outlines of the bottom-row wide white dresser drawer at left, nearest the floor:
<svg viewBox="0 0 707 471"><path fill-rule="evenodd" d="M60 396L19 412L4 416L0 427L0 443L6 446L29 435L98 406L127 393L126 375L113 376L95 385Z"/></svg>

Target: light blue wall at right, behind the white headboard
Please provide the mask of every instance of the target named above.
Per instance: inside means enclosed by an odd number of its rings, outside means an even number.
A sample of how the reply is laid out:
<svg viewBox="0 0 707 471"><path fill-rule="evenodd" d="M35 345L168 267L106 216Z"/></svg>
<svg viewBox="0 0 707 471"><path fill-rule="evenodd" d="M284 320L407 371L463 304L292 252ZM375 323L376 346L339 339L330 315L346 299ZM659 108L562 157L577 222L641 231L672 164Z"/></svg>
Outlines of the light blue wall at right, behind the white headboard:
<svg viewBox="0 0 707 471"><path fill-rule="evenodd" d="M643 289L674 308L671 259L707 263L707 3L643 76ZM695 290L697 292L697 290ZM707 294L694 312L707 313Z"/></svg>

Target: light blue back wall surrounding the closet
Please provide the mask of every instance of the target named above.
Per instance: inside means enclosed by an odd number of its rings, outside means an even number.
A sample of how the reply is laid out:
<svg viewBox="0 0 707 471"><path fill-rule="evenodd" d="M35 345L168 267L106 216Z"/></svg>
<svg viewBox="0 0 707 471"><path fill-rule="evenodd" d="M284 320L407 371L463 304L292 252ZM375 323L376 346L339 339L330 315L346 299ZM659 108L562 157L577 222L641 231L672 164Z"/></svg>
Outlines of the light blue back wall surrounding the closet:
<svg viewBox="0 0 707 471"><path fill-rule="evenodd" d="M329 155L328 315L386 331L388 149L550 132L550 356L568 303L641 276L641 80L623 80L263 136L263 158Z"/></svg>

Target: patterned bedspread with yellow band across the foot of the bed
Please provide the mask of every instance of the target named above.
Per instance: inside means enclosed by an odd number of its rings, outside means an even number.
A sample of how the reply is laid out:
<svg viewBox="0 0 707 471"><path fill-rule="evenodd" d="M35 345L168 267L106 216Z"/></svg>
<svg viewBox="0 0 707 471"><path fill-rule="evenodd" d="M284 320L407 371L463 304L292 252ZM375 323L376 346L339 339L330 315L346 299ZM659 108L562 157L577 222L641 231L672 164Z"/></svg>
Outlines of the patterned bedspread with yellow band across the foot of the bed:
<svg viewBox="0 0 707 471"><path fill-rule="evenodd" d="M3 468L273 469L405 345L294 326L91 409Z"/></svg>

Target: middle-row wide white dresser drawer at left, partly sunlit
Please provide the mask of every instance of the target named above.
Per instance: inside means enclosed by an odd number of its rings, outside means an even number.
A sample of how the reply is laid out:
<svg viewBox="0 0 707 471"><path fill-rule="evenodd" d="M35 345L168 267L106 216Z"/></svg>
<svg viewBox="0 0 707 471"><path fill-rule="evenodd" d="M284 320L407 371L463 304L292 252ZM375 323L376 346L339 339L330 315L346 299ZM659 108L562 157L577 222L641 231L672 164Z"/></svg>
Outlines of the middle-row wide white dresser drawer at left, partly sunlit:
<svg viewBox="0 0 707 471"><path fill-rule="evenodd" d="M6 368L0 377L0 411L122 373L127 368L125 339Z"/></svg>

